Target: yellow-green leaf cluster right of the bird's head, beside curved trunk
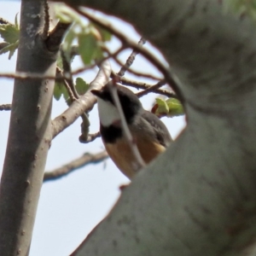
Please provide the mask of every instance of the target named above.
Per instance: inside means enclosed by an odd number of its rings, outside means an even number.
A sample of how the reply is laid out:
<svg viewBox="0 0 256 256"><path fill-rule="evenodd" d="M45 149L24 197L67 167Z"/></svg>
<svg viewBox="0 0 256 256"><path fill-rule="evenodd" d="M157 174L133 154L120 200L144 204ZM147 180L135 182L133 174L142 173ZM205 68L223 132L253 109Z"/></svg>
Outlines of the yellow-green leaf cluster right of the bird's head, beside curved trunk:
<svg viewBox="0 0 256 256"><path fill-rule="evenodd" d="M151 109L151 112L158 117L175 117L184 114L183 105L175 98L169 98L167 100L156 98L156 104Z"/></svg>

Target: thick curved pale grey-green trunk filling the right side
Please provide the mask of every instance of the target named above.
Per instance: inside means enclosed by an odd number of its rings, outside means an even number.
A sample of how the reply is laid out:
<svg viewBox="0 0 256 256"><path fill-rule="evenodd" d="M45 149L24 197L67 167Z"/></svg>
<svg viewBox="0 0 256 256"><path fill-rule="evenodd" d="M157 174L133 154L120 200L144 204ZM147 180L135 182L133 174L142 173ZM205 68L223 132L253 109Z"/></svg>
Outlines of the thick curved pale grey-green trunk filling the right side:
<svg viewBox="0 0 256 256"><path fill-rule="evenodd" d="M188 119L75 255L249 255L256 236L255 24L224 14L218 0L64 2L136 26L171 64Z"/></svg>

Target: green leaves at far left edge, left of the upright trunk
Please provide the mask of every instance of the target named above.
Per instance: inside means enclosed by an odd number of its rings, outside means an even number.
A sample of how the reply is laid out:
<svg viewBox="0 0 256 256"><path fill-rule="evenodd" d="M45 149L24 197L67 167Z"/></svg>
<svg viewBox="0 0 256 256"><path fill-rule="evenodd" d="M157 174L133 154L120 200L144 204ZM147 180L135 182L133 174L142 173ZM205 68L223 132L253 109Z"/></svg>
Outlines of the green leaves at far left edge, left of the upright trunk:
<svg viewBox="0 0 256 256"><path fill-rule="evenodd" d="M15 24L0 24L0 36L3 38L1 43L0 55L9 52L9 60L15 54L19 46L20 26L17 15L15 15Z"/></svg>

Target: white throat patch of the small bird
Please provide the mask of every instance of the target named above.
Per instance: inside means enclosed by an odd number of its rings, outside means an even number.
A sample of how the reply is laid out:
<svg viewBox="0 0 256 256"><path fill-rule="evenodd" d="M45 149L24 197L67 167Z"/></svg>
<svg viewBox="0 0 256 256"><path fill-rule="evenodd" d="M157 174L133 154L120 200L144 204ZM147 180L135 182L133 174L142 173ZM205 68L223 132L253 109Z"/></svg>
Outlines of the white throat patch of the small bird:
<svg viewBox="0 0 256 256"><path fill-rule="evenodd" d="M109 126L119 122L120 117L118 109L115 106L113 106L111 102L103 101L99 97L97 97L97 100L99 116L102 125Z"/></svg>

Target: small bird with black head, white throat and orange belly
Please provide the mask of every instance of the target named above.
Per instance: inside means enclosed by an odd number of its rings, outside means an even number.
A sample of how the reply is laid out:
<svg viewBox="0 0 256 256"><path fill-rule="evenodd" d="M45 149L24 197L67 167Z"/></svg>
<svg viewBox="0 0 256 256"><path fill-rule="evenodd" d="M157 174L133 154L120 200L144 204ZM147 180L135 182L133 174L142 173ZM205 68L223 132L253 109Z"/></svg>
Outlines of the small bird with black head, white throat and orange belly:
<svg viewBox="0 0 256 256"><path fill-rule="evenodd" d="M102 141L115 165L131 179L137 173L134 168L136 159L124 136L119 111L114 105L109 86L107 84L102 90L91 90L97 97ZM131 90L121 85L115 86L133 140L137 143L144 162L148 164L166 150L172 143L172 137L166 125L154 113L146 111Z"/></svg>

